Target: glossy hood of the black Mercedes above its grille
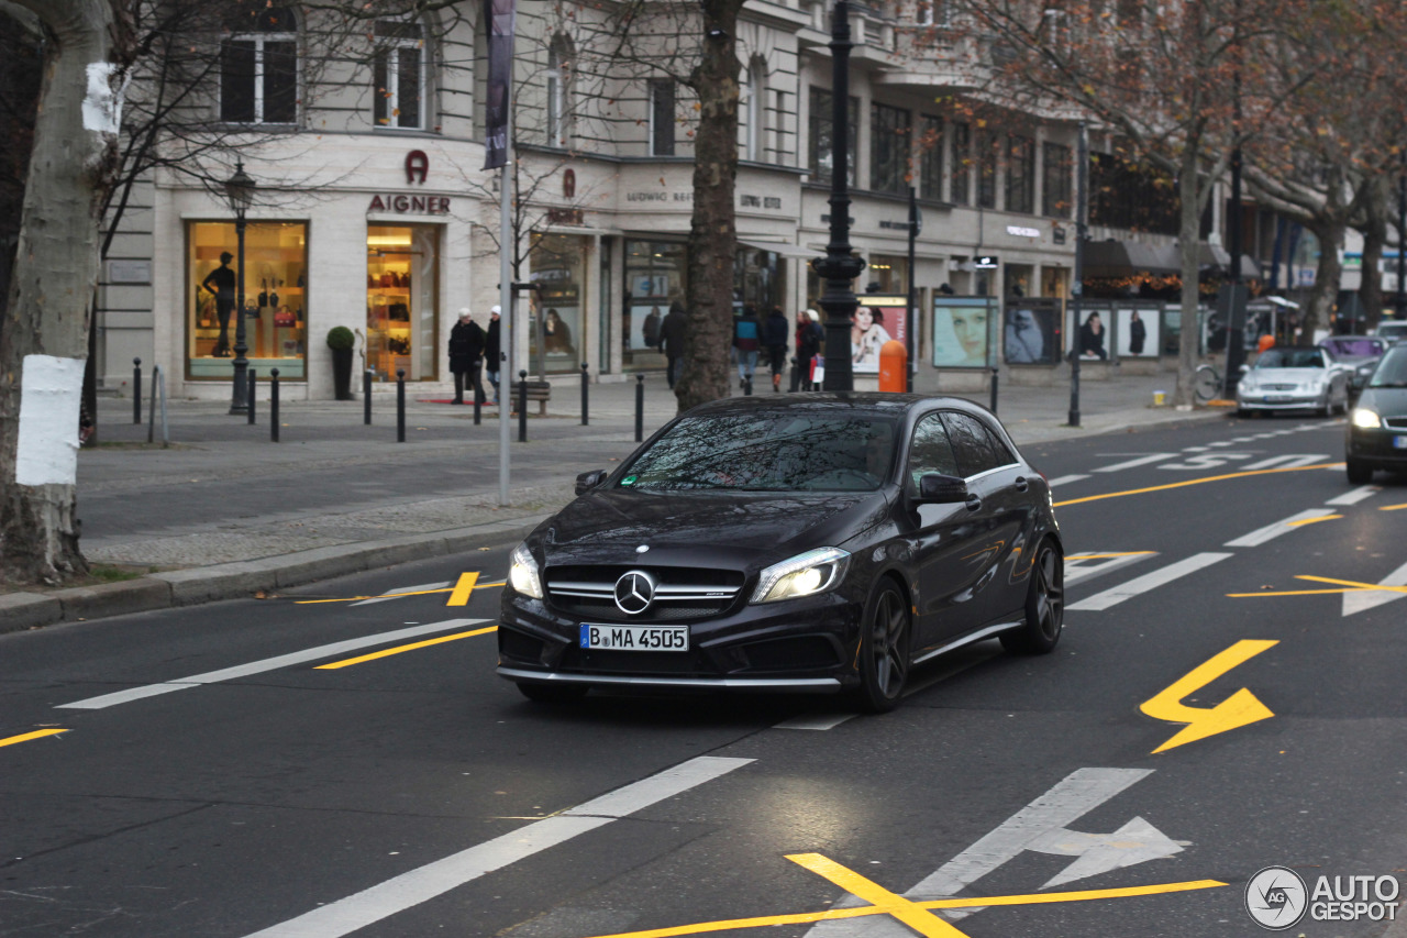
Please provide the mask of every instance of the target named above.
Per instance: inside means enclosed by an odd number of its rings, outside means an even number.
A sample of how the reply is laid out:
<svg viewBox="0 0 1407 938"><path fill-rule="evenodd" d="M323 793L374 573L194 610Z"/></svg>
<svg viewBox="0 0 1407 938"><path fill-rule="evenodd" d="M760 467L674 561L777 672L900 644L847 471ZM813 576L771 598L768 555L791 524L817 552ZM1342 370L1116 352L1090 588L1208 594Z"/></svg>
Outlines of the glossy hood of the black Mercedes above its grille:
<svg viewBox="0 0 1407 938"><path fill-rule="evenodd" d="M709 566L751 566L758 555L785 558L840 546L886 514L884 492L646 492L599 489L537 530L553 563L696 558Z"/></svg>

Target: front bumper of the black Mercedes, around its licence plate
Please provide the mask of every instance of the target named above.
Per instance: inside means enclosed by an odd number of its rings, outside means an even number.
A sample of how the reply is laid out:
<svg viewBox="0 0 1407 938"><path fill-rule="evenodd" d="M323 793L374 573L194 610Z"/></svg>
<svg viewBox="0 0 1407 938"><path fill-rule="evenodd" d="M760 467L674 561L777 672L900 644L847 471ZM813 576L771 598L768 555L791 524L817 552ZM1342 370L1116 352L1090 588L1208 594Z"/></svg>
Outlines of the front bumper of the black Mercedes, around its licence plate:
<svg viewBox="0 0 1407 938"><path fill-rule="evenodd" d="M862 606L839 592L743 604L687 623L688 651L602 651L580 646L582 620L505 594L497 673L515 683L834 693L858 682Z"/></svg>

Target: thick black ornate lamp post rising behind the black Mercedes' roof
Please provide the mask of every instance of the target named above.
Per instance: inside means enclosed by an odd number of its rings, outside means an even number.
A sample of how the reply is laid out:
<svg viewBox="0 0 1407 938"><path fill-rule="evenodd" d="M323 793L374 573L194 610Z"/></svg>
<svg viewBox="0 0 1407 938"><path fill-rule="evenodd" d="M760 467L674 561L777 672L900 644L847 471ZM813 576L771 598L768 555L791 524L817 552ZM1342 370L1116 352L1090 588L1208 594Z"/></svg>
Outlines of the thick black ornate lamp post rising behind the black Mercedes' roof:
<svg viewBox="0 0 1407 938"><path fill-rule="evenodd" d="M850 324L855 315L854 279L865 262L850 248L850 4L836 1L830 23L830 242L826 256L810 262L826 282L820 308L826 311L826 377L823 390L854 390ZM909 272L913 276L913 272Z"/></svg>

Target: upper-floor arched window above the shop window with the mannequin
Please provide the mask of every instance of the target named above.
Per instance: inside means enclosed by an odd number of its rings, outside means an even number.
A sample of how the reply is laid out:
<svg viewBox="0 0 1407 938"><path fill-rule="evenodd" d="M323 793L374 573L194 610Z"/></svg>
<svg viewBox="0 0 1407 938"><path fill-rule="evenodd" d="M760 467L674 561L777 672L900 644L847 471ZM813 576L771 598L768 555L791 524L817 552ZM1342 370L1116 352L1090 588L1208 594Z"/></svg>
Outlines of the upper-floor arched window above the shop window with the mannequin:
<svg viewBox="0 0 1407 938"><path fill-rule="evenodd" d="M263 7L252 23L241 17L221 44L219 120L293 124L297 118L298 21L291 10Z"/></svg>

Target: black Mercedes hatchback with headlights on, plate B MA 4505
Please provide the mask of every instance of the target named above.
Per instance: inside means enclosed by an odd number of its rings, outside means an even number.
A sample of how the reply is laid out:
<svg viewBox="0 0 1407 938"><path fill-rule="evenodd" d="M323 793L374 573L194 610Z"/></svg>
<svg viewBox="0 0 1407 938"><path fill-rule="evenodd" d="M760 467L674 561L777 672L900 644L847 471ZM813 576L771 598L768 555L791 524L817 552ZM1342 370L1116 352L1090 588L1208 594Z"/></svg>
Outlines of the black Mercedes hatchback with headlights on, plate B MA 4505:
<svg viewBox="0 0 1407 938"><path fill-rule="evenodd" d="M1064 551L1045 477L982 407L916 394L713 401L512 552L498 673L592 687L848 692L983 638L1048 652Z"/></svg>

